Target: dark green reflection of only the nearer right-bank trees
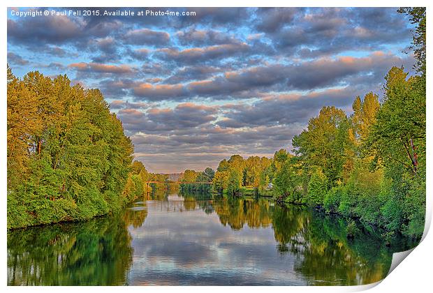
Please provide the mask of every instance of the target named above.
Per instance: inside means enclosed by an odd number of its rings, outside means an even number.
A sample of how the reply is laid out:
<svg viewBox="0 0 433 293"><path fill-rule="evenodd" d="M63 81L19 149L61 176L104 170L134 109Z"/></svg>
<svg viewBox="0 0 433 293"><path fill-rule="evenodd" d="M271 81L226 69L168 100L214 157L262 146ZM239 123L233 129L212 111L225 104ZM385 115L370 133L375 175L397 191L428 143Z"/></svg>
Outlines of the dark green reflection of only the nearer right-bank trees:
<svg viewBox="0 0 433 293"><path fill-rule="evenodd" d="M346 238L346 223L311 211L274 209L274 236L281 253L298 257L295 271L309 285L360 285L385 278L392 254L372 235Z"/></svg>

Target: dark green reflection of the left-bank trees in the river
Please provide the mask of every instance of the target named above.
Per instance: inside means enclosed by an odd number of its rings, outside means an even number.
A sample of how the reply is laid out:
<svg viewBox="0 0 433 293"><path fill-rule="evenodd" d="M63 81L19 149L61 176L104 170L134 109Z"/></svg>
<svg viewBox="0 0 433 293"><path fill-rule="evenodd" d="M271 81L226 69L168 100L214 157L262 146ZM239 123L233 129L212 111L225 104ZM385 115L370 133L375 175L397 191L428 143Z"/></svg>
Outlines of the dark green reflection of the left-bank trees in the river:
<svg viewBox="0 0 433 293"><path fill-rule="evenodd" d="M8 285L124 285L131 236L124 215L8 232Z"/></svg>

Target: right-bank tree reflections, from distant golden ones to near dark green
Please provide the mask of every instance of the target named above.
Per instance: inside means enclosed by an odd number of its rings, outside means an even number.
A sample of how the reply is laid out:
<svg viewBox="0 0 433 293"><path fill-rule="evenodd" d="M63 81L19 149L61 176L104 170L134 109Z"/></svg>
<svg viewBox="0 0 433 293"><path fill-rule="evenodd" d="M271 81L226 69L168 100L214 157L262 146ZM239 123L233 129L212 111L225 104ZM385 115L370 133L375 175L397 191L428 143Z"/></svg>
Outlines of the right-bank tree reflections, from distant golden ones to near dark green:
<svg viewBox="0 0 433 293"><path fill-rule="evenodd" d="M272 224L277 249L293 253L295 271L309 285L360 285L374 283L388 273L392 252L372 234L346 237L346 222L322 216L302 206L270 206L267 200L220 197L214 211L233 230Z"/></svg>

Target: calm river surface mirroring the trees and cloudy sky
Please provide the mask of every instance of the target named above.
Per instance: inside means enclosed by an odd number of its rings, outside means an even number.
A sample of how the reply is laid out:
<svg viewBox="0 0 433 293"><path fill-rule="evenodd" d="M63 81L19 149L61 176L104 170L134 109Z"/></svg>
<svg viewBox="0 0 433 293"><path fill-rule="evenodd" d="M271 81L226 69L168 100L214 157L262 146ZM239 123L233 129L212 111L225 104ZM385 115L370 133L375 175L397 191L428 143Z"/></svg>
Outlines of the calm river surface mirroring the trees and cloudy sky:
<svg viewBox="0 0 433 293"><path fill-rule="evenodd" d="M154 194L114 216L9 232L8 285L361 285L406 249L345 231L264 198Z"/></svg>

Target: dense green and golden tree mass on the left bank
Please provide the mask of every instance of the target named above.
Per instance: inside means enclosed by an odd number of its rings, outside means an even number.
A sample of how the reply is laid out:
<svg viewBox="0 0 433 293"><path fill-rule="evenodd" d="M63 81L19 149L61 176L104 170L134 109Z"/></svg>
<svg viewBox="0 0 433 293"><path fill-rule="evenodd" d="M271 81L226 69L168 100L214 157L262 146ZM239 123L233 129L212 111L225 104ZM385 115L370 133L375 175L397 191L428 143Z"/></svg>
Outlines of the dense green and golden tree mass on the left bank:
<svg viewBox="0 0 433 293"><path fill-rule="evenodd" d="M8 228L85 220L133 199L133 145L100 91L8 68L7 129Z"/></svg>

